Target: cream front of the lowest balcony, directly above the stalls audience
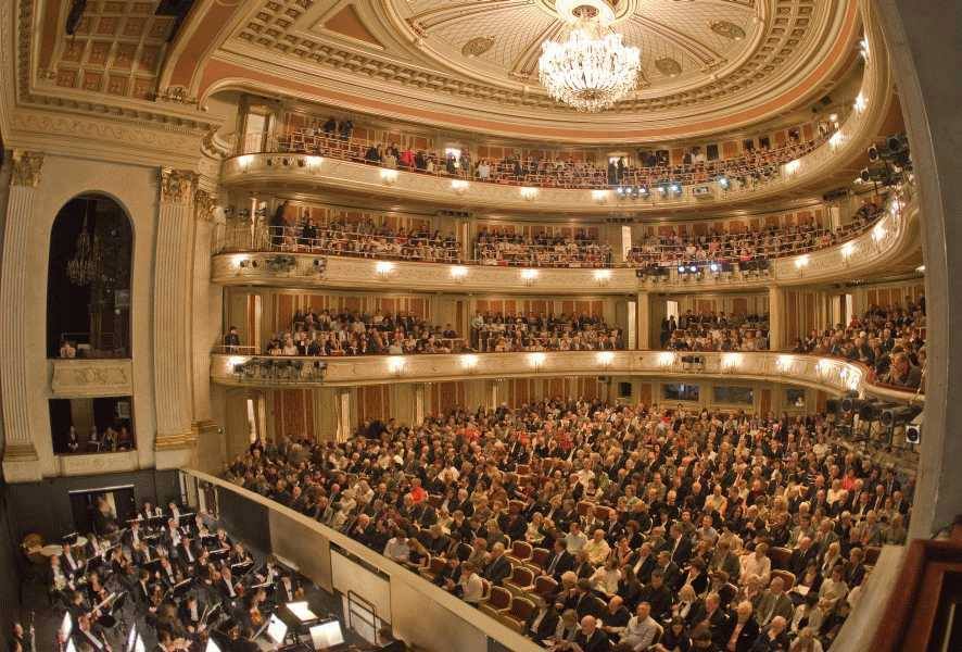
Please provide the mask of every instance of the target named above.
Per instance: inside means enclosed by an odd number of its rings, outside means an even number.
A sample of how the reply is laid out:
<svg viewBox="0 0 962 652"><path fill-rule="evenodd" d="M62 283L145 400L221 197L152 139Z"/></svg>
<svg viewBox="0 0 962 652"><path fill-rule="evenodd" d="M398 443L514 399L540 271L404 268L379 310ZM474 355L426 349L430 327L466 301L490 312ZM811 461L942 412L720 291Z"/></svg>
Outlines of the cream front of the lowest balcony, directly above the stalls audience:
<svg viewBox="0 0 962 652"><path fill-rule="evenodd" d="M237 371L251 360L301 362L299 375L288 364L280 376L250 376ZM696 361L696 362L693 362ZM317 365L317 366L315 366ZM855 391L900 403L924 402L912 389L875 383L865 365L835 358L755 352L567 351L430 355L298 358L213 355L211 379L227 386L354 387L390 383L436 383L483 378L571 376L697 377L767 380L840 394Z"/></svg>

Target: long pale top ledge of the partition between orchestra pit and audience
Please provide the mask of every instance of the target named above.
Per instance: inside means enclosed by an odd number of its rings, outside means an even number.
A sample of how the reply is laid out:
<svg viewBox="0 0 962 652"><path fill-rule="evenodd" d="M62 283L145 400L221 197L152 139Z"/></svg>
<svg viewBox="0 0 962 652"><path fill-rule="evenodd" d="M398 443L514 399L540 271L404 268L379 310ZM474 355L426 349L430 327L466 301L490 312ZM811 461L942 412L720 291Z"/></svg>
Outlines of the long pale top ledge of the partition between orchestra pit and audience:
<svg viewBox="0 0 962 652"><path fill-rule="evenodd" d="M378 568L381 573L388 575L392 584L395 581L404 582L408 587L412 587L418 593L427 597L434 604L441 606L448 612L454 613L465 623L478 624L480 618L480 623L483 623L483 628L479 627L479 629L485 636L493 638L494 640L505 645L508 650L512 650L515 652L544 652L543 648L541 648L533 641L524 638L517 631L511 630L503 623L497 622L483 612L480 612L479 610L469 605L467 602L455 598L444 589L434 586L416 573L412 573L409 569L397 564L396 562L393 562L384 555L369 550L351 537L339 532L338 530L332 529L327 525L324 525L322 523L318 523L313 518L308 518L307 516L301 514L295 510L292 510L270 499L264 498L260 493L255 493L250 489L245 489L244 487L240 487L223 478L218 478L216 476L212 476L210 474L193 468L181 468L180 473L185 473L197 478L198 480L211 485L216 485L221 489L231 491L241 498L255 502L266 507L267 510L274 511L287 518L290 518L295 523L306 527L307 529L314 530L318 536L327 539L330 543L342 548L346 552L364 561L366 564L369 564L370 566ZM442 645L446 644L444 642L440 643ZM435 648L434 650L436 652L446 652L448 648Z"/></svg>

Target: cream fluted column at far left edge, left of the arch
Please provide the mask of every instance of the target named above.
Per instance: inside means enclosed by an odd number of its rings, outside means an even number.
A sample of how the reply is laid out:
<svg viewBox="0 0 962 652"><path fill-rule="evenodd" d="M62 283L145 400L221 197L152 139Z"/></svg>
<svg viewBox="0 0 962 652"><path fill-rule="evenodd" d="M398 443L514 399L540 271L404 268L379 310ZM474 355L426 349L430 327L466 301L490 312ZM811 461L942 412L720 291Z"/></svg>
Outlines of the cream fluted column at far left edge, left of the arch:
<svg viewBox="0 0 962 652"><path fill-rule="evenodd" d="M42 478L34 423L27 396L27 359L24 348L27 328L26 277L28 265L23 255L34 226L34 205L43 154L14 151L11 162L10 193L3 228L3 262L0 266L0 400L3 408L3 476L8 482L28 482ZM33 301L42 300L34 297ZM37 353L37 352L34 352ZM41 362L33 361L33 364ZM46 364L46 362L45 362Z"/></svg>

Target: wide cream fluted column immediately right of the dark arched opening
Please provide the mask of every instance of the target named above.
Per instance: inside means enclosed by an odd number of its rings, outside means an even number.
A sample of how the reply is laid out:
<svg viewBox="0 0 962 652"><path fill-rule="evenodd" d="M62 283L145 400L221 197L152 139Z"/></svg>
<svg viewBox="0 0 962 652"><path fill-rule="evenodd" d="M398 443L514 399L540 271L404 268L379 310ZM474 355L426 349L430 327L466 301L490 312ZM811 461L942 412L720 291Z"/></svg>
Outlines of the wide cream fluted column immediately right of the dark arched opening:
<svg viewBox="0 0 962 652"><path fill-rule="evenodd" d="M160 451L178 451L157 467L186 463L192 428L191 273L197 174L162 168L154 254L154 402ZM208 401L210 403L210 401Z"/></svg>

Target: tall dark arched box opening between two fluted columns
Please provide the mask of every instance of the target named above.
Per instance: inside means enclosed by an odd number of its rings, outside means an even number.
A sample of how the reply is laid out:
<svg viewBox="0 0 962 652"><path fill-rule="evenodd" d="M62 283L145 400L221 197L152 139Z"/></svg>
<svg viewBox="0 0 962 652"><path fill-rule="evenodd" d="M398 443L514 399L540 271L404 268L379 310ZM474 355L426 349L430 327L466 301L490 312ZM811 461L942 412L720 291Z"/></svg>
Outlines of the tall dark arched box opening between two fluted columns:
<svg viewBox="0 0 962 652"><path fill-rule="evenodd" d="M47 355L130 358L134 235L114 199L83 195L53 221L47 271Z"/></svg>

